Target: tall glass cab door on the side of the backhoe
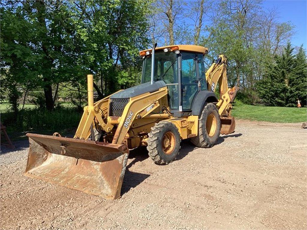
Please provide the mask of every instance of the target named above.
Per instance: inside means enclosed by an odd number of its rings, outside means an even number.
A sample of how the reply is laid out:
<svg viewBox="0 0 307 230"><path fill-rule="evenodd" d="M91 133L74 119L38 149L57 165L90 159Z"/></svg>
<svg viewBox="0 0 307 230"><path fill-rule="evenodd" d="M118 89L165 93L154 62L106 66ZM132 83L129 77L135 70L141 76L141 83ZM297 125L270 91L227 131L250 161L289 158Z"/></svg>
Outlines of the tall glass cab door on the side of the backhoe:
<svg viewBox="0 0 307 230"><path fill-rule="evenodd" d="M191 110L193 99L199 91L197 54L181 53L181 100L182 111Z"/></svg>

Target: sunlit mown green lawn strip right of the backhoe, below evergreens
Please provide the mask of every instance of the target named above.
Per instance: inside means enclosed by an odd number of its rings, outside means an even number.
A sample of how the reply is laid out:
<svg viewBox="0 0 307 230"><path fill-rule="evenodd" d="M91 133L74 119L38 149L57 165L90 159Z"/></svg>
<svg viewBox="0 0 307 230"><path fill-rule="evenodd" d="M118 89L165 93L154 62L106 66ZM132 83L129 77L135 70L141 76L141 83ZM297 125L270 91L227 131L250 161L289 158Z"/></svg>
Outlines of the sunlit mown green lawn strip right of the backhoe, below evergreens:
<svg viewBox="0 0 307 230"><path fill-rule="evenodd" d="M307 121L307 108L245 105L237 101L231 113L235 118L251 121L295 123Z"/></svg>

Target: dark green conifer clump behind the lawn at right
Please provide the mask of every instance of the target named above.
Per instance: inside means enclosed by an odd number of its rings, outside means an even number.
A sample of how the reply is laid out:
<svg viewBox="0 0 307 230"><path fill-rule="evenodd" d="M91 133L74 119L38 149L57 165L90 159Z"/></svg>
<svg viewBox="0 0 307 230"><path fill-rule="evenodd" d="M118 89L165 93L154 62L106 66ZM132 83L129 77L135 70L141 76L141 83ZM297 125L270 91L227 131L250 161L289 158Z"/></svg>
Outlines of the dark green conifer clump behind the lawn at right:
<svg viewBox="0 0 307 230"><path fill-rule="evenodd" d="M305 52L301 48L294 57L293 49L288 42L282 55L275 55L274 64L267 66L264 79L258 82L259 96L266 105L295 106L298 98L306 98Z"/></svg>

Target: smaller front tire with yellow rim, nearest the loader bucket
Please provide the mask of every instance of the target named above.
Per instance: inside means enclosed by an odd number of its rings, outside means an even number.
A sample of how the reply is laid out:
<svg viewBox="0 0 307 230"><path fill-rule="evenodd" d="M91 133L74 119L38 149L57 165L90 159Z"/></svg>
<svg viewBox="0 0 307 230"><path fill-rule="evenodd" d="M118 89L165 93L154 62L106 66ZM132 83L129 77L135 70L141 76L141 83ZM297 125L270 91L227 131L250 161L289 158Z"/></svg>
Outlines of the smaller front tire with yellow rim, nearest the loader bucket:
<svg viewBox="0 0 307 230"><path fill-rule="evenodd" d="M178 128L169 121L160 121L148 133L148 155L157 164L168 164L176 159L180 149Z"/></svg>

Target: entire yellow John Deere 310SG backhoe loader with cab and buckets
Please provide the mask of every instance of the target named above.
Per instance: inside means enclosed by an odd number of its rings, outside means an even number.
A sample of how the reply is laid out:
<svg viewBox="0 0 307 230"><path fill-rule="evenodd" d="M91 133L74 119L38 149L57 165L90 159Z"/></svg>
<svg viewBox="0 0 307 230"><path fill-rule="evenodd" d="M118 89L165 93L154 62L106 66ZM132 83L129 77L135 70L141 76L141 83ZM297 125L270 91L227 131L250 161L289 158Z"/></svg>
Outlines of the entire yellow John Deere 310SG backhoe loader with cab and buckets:
<svg viewBox="0 0 307 230"><path fill-rule="evenodd" d="M28 133L25 175L108 199L120 197L129 149L147 146L156 164L176 159L180 142L212 147L220 133L234 132L227 59L205 72L208 49L172 45L143 50L142 82L94 103L87 75L88 105L73 138ZM220 98L214 93L219 85Z"/></svg>

